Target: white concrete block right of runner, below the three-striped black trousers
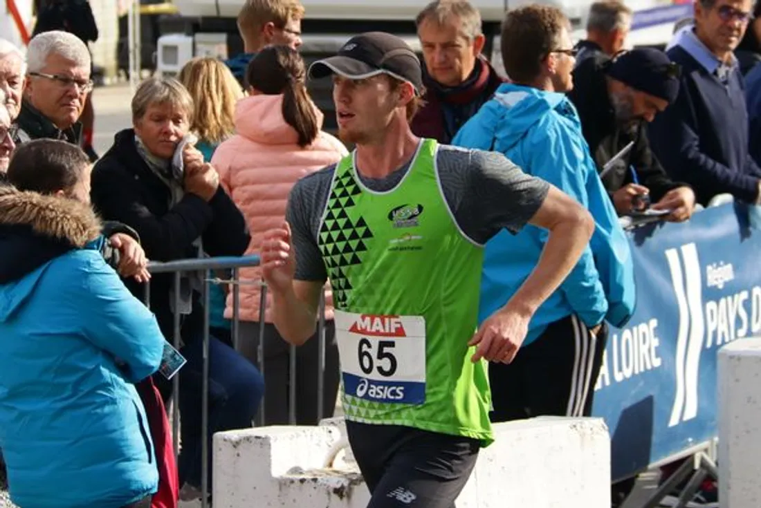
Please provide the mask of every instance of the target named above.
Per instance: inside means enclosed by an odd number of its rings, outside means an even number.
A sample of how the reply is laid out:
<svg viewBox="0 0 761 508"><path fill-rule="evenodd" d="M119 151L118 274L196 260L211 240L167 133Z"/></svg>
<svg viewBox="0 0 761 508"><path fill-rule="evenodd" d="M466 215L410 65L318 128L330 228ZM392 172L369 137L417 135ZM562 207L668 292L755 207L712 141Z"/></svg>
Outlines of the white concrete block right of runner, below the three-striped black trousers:
<svg viewBox="0 0 761 508"><path fill-rule="evenodd" d="M457 508L609 508L610 435L599 418L496 424Z"/></svg>

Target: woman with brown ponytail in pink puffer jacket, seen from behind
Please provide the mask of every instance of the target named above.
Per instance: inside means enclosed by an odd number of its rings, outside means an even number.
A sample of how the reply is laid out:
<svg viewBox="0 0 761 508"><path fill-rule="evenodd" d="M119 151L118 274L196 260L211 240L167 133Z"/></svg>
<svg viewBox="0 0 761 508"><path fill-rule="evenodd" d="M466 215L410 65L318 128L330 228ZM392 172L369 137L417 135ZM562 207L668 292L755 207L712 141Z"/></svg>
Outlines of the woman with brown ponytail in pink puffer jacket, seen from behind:
<svg viewBox="0 0 761 508"><path fill-rule="evenodd" d="M285 218L291 187L302 176L338 162L346 148L320 131L323 114L307 94L306 69L298 52L287 46L269 46L251 60L247 69L250 97L236 106L237 134L219 145L212 164L224 189L245 214L251 232L247 254L260 252L266 230ZM241 354L258 364L260 331L259 268L240 271ZM333 415L339 385L338 350L333 329L333 307L326 290L326 364L323 379L323 418ZM264 323L264 423L288 424L290 347L272 325L267 300ZM232 316L232 294L225 316ZM297 350L296 423L317 424L318 341Z"/></svg>

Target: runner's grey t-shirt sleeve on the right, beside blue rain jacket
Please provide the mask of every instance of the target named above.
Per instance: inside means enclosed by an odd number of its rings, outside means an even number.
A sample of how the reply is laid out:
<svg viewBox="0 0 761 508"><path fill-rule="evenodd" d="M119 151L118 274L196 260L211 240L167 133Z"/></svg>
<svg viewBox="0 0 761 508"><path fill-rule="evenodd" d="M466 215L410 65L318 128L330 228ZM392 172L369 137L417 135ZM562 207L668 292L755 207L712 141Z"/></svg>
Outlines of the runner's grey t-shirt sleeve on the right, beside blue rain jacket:
<svg viewBox="0 0 761 508"><path fill-rule="evenodd" d="M486 243L502 228L520 231L549 192L549 183L497 152L444 146L437 164L454 219L476 243Z"/></svg>

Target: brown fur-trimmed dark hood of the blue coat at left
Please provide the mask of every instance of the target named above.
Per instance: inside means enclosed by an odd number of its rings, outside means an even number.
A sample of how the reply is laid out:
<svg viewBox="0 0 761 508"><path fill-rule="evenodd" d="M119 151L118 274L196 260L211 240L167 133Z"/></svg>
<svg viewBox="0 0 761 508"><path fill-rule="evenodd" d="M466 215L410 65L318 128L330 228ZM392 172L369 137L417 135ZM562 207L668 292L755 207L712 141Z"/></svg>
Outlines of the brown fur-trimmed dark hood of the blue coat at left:
<svg viewBox="0 0 761 508"><path fill-rule="evenodd" d="M0 284L100 237L100 221L72 199L0 186Z"/></svg>

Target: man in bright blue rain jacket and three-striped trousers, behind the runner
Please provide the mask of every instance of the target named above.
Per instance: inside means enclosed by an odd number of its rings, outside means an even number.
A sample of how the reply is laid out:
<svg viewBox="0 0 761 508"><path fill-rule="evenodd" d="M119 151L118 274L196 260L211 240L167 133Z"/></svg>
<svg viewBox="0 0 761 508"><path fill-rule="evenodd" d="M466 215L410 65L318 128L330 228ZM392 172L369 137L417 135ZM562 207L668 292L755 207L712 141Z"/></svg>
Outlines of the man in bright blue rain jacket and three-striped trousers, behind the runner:
<svg viewBox="0 0 761 508"><path fill-rule="evenodd" d="M632 314L634 271L629 243L589 153L572 88L575 50L568 19L556 8L530 5L508 13L502 55L513 83L463 125L454 143L505 154L587 207L596 222L590 246L571 275L530 322L515 360L491 364L492 421L540 414L591 414L594 383L607 339L606 321ZM486 244L481 308L484 319L517 291L537 264L546 231L502 231Z"/></svg>

